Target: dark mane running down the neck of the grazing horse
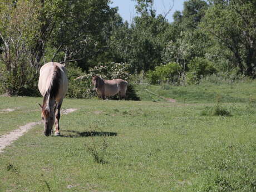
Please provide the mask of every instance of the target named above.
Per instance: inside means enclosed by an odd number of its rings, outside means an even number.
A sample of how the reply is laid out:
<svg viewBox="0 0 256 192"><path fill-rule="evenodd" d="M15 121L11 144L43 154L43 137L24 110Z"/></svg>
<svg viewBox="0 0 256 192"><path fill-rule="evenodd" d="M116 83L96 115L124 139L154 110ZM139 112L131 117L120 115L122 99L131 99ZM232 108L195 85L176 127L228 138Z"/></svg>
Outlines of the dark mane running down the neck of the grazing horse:
<svg viewBox="0 0 256 192"><path fill-rule="evenodd" d="M57 65L53 68L51 78L50 86L43 97L42 113L44 116L50 115L50 100L55 99L60 88L61 69Z"/></svg>

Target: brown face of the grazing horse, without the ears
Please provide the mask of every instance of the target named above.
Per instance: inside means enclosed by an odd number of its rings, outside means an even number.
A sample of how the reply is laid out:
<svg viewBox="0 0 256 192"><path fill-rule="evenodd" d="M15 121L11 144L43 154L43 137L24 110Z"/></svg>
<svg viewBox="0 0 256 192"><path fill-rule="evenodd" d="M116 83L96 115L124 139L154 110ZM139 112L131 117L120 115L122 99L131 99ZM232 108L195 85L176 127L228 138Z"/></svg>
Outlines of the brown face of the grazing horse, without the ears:
<svg viewBox="0 0 256 192"><path fill-rule="evenodd" d="M49 136L51 135L52 132L52 126L55 122L55 115L53 112L48 112L48 111L43 111L42 110L42 120L43 120L43 124L45 125L45 130L43 131L43 134L45 134L45 136Z"/></svg>

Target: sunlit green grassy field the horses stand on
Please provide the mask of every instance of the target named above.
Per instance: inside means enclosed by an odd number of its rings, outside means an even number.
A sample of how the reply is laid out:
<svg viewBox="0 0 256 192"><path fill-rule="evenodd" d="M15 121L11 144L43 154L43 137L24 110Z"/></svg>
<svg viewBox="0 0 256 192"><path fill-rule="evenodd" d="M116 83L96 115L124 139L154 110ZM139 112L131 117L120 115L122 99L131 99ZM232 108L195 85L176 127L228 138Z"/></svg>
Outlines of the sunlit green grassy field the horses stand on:
<svg viewBox="0 0 256 192"><path fill-rule="evenodd" d="M256 191L255 84L65 99L63 109L78 110L62 115L61 137L37 125L0 154L0 191ZM0 110L18 107L0 114L0 134L40 121L42 98L0 101Z"/></svg>

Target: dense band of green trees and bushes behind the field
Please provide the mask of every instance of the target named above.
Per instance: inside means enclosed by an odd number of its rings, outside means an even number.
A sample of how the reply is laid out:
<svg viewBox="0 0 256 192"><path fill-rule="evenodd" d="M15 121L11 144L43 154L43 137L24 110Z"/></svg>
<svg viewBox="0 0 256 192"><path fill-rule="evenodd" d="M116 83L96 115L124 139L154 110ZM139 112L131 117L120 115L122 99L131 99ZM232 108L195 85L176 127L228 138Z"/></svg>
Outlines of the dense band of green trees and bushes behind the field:
<svg viewBox="0 0 256 192"><path fill-rule="evenodd" d="M193 84L218 73L255 77L255 1L187 0L171 23L156 14L153 0L135 1L130 24L110 0L1 1L0 92L36 95L40 67L51 61L72 66L70 97L88 95L80 87L88 87L89 78L75 80L97 63L104 63L102 70L129 63L127 73L151 83ZM172 69L170 63L176 63ZM99 74L123 78L109 70Z"/></svg>

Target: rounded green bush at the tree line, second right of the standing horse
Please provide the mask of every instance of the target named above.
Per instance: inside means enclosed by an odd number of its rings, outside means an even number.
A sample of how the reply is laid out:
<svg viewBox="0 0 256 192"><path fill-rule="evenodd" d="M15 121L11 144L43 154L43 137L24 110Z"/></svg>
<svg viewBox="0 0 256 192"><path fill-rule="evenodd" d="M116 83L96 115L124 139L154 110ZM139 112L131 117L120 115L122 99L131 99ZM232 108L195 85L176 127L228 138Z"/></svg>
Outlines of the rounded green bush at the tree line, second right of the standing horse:
<svg viewBox="0 0 256 192"><path fill-rule="evenodd" d="M186 82L198 84L201 78L216 73L217 70L205 58L195 57L188 65L189 72L186 73Z"/></svg>

